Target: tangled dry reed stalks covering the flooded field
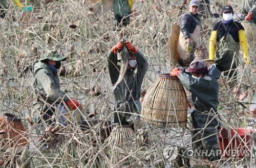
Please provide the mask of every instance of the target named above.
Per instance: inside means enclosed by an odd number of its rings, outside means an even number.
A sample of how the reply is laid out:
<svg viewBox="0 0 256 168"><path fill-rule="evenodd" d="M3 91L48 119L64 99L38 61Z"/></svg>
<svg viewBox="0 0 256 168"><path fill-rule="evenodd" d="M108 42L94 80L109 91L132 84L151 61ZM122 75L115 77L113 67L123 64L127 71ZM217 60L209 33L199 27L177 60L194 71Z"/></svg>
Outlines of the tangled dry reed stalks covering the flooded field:
<svg viewBox="0 0 256 168"><path fill-rule="evenodd" d="M26 14L21 14L11 3L7 17L0 20L0 108L3 113L15 113L22 118L26 128L23 135L30 145L12 148L8 138L2 136L4 132L0 132L0 164L3 167L181 166L184 162L172 161L178 156L179 149L191 148L193 129L189 123L184 130L148 127L149 146L138 143L142 135L138 131L125 139L132 144L133 148L129 149L114 143L105 129L110 126L114 114L106 54L126 36L147 58L149 66L142 87L148 90L160 73L168 73L172 67L166 52L167 41L172 24L178 21L181 13L179 3L136 1L131 24L121 31L115 29L114 14L109 6L105 8L105 1L44 1L44 4L35 1L32 13ZM240 1L229 3L239 9ZM214 22L208 18L203 23L201 40L207 47ZM26 121L33 106L32 66L42 53L52 48L68 58L62 65L66 70L60 77L61 89L83 105L81 113L87 127L81 129L77 123L72 123L49 128L42 135L42 143L38 143L38 137L32 131L36 124ZM251 64L245 66L242 57L239 59L236 86L229 79L221 81L218 115L226 128L255 128L254 55L254 43L250 43ZM93 118L88 116L89 113L94 114ZM254 159L255 152L252 151L250 156L242 159L222 157L219 165L255 167Z"/></svg>

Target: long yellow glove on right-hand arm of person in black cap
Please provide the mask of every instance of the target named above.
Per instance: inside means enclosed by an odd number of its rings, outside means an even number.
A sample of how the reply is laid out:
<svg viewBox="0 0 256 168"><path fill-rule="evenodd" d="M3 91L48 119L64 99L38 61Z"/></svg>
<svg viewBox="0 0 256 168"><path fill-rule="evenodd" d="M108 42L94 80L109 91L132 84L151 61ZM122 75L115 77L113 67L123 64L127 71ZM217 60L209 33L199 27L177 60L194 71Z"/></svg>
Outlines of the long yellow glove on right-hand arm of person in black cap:
<svg viewBox="0 0 256 168"><path fill-rule="evenodd" d="M247 38L245 36L244 30L238 31L238 38L239 38L240 46L244 56L244 63L247 62L247 65L249 65L251 62L250 60L248 60L248 43L247 43Z"/></svg>

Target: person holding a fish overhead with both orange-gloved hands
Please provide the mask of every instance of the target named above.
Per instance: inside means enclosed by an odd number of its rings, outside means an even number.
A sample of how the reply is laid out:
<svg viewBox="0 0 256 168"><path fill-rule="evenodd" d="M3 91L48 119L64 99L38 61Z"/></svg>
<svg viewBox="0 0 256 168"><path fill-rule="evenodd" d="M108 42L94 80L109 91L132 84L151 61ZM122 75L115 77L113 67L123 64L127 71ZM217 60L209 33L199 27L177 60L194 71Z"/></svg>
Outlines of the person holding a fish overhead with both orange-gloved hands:
<svg viewBox="0 0 256 168"><path fill-rule="evenodd" d="M138 115L131 115L130 113L140 114L141 103L141 85L146 74L147 61L144 55L131 44L130 41L118 42L112 47L108 55L108 68L112 85L118 80L120 71L120 57L118 52L123 46L126 46L130 52L129 65L124 74L123 80L117 85L114 90L115 110L129 112L129 113L115 113L114 123L121 125L131 125L134 127L134 121L138 121Z"/></svg>

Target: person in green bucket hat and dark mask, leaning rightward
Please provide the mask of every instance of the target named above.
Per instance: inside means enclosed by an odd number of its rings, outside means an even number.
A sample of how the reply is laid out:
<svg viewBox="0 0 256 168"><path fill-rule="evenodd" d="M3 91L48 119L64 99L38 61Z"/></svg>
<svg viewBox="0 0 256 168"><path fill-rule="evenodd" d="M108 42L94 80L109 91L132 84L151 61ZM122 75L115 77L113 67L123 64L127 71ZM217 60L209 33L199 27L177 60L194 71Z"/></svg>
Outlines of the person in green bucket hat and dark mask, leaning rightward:
<svg viewBox="0 0 256 168"><path fill-rule="evenodd" d="M48 125L52 125L52 115L55 106L62 100L70 110L75 110L80 106L76 100L70 100L65 93L60 90L57 70L61 66L61 61L67 58L61 57L57 51L49 50L34 64L34 97L35 103L31 110L36 133L42 134Z"/></svg>

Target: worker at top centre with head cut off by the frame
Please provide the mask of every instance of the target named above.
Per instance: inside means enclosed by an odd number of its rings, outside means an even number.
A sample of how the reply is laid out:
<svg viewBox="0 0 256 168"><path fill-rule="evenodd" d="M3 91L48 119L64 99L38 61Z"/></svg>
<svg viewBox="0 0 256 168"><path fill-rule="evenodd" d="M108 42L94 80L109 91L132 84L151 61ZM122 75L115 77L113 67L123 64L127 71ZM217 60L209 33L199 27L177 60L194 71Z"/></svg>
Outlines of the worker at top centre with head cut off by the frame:
<svg viewBox="0 0 256 168"><path fill-rule="evenodd" d="M127 26L130 23L130 14L134 0L114 0L114 15L116 26Z"/></svg>

